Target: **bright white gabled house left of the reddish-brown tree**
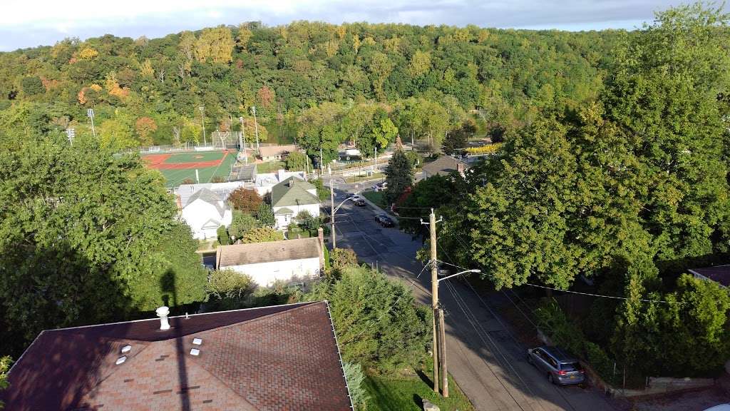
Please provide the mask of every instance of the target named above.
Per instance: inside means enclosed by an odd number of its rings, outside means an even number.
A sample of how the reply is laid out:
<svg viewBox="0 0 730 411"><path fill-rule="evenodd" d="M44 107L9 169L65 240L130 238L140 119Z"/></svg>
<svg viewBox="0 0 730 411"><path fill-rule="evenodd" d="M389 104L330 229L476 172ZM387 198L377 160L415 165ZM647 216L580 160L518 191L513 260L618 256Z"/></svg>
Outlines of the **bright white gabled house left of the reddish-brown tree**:
<svg viewBox="0 0 730 411"><path fill-rule="evenodd" d="M193 230L193 238L216 238L218 227L231 225L231 207L210 189L199 189L188 198L181 214Z"/></svg>

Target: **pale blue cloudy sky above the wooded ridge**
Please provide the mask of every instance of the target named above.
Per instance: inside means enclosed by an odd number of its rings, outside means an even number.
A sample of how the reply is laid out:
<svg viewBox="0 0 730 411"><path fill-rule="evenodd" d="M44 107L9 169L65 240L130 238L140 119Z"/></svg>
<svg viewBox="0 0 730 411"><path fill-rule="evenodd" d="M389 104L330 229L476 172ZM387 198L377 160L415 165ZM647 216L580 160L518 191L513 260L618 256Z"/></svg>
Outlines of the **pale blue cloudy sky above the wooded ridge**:
<svg viewBox="0 0 730 411"><path fill-rule="evenodd" d="M447 24L501 29L635 29L680 0L5 0L0 50L66 37L163 37L183 30L261 21Z"/></svg>

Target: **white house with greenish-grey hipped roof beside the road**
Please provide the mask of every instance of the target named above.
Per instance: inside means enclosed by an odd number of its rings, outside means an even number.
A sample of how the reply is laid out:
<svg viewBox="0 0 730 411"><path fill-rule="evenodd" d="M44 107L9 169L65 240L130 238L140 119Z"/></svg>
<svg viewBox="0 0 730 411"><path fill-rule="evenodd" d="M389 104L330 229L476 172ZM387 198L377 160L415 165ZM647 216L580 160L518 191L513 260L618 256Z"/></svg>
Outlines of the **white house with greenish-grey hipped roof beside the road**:
<svg viewBox="0 0 730 411"><path fill-rule="evenodd" d="M301 211L319 216L317 187L296 177L287 178L272 187L272 210L278 230L285 230Z"/></svg>

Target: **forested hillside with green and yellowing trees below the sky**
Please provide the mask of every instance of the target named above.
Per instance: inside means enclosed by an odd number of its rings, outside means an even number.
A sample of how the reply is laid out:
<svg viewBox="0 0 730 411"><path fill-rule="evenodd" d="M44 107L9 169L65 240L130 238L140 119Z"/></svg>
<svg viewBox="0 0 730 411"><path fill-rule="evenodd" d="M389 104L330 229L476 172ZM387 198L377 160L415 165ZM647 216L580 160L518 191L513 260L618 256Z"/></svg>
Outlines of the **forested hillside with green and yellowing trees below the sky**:
<svg viewBox="0 0 730 411"><path fill-rule="evenodd" d="M93 108L104 146L185 143L201 139L201 113L208 132L238 130L239 116L253 128L255 106L269 141L312 154L333 157L345 140L370 153L398 132L438 147L475 108L480 131L502 135L537 110L595 99L622 37L302 21L66 39L0 54L0 132L88 138Z"/></svg>

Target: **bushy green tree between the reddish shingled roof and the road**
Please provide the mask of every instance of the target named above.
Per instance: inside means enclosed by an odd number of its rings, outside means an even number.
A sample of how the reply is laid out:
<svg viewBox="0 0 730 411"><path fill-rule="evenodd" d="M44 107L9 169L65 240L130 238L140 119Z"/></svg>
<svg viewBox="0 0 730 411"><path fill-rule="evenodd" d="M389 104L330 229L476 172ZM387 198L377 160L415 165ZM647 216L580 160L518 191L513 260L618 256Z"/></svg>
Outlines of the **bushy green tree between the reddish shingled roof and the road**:
<svg viewBox="0 0 730 411"><path fill-rule="evenodd" d="M345 362L392 372L417 363L429 347L430 310L403 284L369 268L345 268L342 279L319 282L304 299L329 301Z"/></svg>

